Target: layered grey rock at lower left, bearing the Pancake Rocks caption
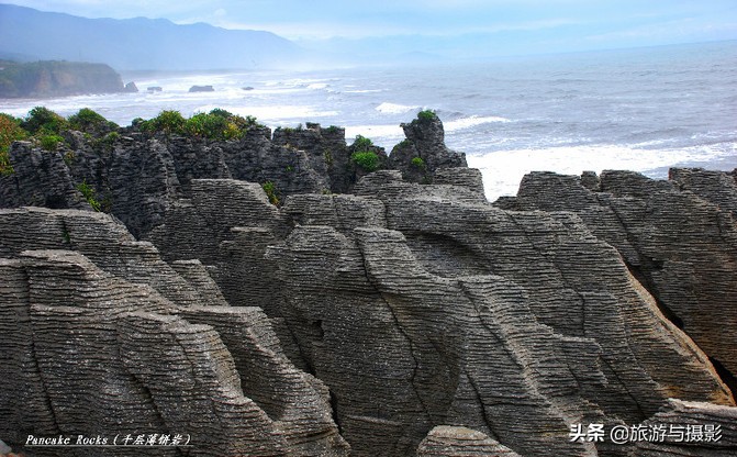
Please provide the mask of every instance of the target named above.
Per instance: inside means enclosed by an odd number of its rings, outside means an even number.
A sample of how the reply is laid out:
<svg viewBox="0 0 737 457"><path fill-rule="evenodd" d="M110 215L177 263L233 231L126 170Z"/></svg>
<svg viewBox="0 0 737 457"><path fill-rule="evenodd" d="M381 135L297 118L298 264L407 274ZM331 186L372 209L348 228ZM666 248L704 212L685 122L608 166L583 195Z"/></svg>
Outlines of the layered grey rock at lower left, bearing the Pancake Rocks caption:
<svg viewBox="0 0 737 457"><path fill-rule="evenodd" d="M0 226L0 436L14 448L182 434L191 447L157 455L347 455L325 386L289 361L260 309L200 293L216 289L201 264L176 263L188 281L91 212L3 210Z"/></svg>

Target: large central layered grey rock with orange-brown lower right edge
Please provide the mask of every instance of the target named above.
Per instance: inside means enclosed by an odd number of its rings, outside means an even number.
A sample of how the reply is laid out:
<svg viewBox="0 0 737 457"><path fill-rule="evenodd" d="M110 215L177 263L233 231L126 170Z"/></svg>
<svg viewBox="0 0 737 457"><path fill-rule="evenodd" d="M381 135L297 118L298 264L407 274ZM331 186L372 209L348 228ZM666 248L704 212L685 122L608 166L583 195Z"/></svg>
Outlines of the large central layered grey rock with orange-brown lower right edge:
<svg viewBox="0 0 737 457"><path fill-rule="evenodd" d="M277 211L253 185L193 181L153 241L242 278L215 275L225 297L261 300L286 324L290 357L330 388L355 455L412 455L440 424L520 455L625 455L571 443L571 425L636 424L669 397L733 404L580 219L495 209L467 182L381 171L357 196L293 196ZM214 211L192 203L200 192L239 203Z"/></svg>

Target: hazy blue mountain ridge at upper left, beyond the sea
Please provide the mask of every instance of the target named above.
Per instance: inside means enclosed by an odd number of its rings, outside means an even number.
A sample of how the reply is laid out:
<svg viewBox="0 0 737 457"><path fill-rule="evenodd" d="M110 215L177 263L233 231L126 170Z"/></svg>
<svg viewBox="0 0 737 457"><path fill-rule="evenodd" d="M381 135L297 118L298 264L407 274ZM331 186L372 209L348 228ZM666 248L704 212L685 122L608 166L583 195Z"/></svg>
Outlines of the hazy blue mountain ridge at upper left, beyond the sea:
<svg viewBox="0 0 737 457"><path fill-rule="evenodd" d="M165 19L87 19L0 4L0 56L104 63L118 70L283 67L304 52L269 32Z"/></svg>

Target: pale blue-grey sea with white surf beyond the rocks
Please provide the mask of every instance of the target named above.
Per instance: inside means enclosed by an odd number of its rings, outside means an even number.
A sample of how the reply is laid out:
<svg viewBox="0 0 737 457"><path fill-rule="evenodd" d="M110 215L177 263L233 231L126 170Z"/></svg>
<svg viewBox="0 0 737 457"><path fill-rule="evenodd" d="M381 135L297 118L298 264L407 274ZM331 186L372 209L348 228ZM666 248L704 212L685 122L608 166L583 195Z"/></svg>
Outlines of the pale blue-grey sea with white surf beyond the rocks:
<svg viewBox="0 0 737 457"><path fill-rule="evenodd" d="M632 49L362 65L302 71L123 74L137 93L0 100L26 115L45 105L91 108L129 125L161 110L222 108L271 127L346 127L388 152L400 124L434 110L446 144L481 169L487 198L514 196L534 170L628 169L666 179L670 167L737 168L737 41ZM212 92L190 93L194 85ZM148 91L160 87L161 91Z"/></svg>

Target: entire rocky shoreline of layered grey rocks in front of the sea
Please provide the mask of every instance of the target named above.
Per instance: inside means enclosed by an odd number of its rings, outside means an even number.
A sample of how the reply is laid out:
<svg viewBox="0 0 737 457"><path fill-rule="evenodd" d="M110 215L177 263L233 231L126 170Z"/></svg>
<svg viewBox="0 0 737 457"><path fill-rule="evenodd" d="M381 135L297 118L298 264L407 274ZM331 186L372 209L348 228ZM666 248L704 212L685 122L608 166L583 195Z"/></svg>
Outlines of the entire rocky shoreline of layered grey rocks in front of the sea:
<svg viewBox="0 0 737 457"><path fill-rule="evenodd" d="M146 450L163 456L737 453L737 172L539 172L490 203L437 116L403 127L391 154L317 124L14 143L0 439L37 456L142 449L30 435L189 436ZM650 434L614 443L617 427Z"/></svg>

